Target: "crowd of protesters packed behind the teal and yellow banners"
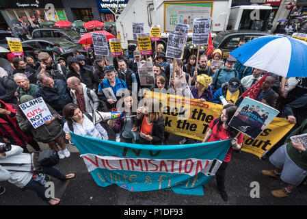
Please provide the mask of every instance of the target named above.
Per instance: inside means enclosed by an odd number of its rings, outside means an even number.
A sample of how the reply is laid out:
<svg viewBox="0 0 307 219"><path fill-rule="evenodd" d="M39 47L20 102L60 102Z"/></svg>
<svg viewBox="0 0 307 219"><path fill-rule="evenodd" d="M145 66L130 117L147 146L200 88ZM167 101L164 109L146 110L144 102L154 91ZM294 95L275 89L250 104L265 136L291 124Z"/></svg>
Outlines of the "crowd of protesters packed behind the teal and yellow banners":
<svg viewBox="0 0 307 219"><path fill-rule="evenodd" d="M244 43L245 40L240 40L238 47ZM154 53L148 58L142 57L137 47L134 47L133 51L117 57L114 66L109 64L107 57L99 55L92 62L88 62L88 59L77 51L73 57L70 56L67 59L35 51L34 57L13 57L10 61L5 60L12 70L6 70L4 66L7 65L0 67L1 142L20 146L23 152L28 151L27 144L35 151L40 151L38 142L47 143L51 149L57 151L60 159L70 156L70 152L66 149L66 144L71 140L70 131L104 140L168 144L170 133L165 132L161 107L159 110L150 109L159 105L155 99L152 99L150 104L144 102L144 106L139 107L136 112L131 110L122 112L124 118L94 124L93 109L101 112L114 111L116 103L123 97L120 95L116 96L116 99L110 99L109 96L105 96L103 89L111 88L114 94L122 89L128 90L129 96L124 96L124 106L125 109L131 109L135 101L132 98L133 83L137 84L137 91L141 88L156 89L155 91L163 88L178 90L185 86L185 89L190 91L189 97L212 103L220 104L219 96L224 96L229 105L224 107L219 118L215 118L209 124L210 129L204 142L235 138L237 133L235 129L228 127L228 123L241 103L240 96L266 72L243 66L231 56L223 60L223 51L220 49L215 50L209 57L200 54L199 60L196 60L196 55L190 54L185 61L170 60L165 57L165 48L162 44L159 44L157 48L157 54ZM213 61L219 61L220 64L214 65ZM141 86L137 63L146 62L152 62L155 74L154 86ZM176 92L176 94L184 95L183 92ZM53 119L34 129L19 105L40 96L47 104ZM297 129L306 126L304 122L307 118L304 111L307 108L306 78L286 79L269 73L256 100L278 109L280 111L278 116L286 118L289 123L295 123L293 129L273 147L271 153L284 142L289 142L289 136L293 135L293 131L297 133ZM126 116L133 117L126 118ZM120 136L120 139L114 136ZM187 142L188 139L183 138L180 144ZM224 201L228 200L224 185L225 170L230 162L232 149L239 151L242 142L243 135L232 141L228 154L217 172L217 185ZM282 147L284 149L284 146ZM276 152L278 151L279 149ZM293 157L299 156L292 154ZM299 160L299 164L295 164L302 170L301 172L297 170L300 173L300 180L286 182L295 182L295 185L299 185L307 175L307 160L302 156L295 160ZM283 164L276 165L279 168L277 172L264 172L264 174L278 177ZM289 171L287 174L288 178L293 177L289 176ZM60 175L59 178L65 177ZM68 178L71 178L71 175ZM289 196L293 188L295 186L282 191L278 190L279 193L276 196ZM51 204L57 201L51 200Z"/></svg>

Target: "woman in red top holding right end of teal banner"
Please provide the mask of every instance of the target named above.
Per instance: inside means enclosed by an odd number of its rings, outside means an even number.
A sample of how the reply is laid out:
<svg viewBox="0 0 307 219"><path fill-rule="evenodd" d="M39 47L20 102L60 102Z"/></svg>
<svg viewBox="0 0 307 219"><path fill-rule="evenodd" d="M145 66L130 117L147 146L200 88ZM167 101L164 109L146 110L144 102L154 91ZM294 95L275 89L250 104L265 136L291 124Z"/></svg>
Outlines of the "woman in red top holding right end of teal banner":
<svg viewBox="0 0 307 219"><path fill-rule="evenodd" d="M222 140L228 140L230 138L234 138L231 141L230 148L226 157L224 158L223 163L219 166L219 169L216 172L216 181L217 181L217 189L219 190L219 194L222 196L224 201L228 201L228 194L225 190L225 173L226 168L231 159L232 151L241 149L243 143L243 133L239 135L239 137L235 138L239 131L233 129L228 126L232 116L235 115L237 111L237 106L235 105L225 105L222 110L222 114L220 117L217 117L209 123L209 131L207 131L206 136L204 136L203 142L216 142Z"/></svg>

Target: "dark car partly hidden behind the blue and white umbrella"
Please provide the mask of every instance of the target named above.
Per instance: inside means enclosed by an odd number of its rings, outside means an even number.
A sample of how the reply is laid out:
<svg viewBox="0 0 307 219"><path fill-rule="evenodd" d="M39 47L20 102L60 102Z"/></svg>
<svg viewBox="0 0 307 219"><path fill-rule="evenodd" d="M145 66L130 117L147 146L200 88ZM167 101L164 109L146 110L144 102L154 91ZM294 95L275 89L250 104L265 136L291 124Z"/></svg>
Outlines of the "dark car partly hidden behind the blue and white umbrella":
<svg viewBox="0 0 307 219"><path fill-rule="evenodd" d="M246 42L258 38L260 36L271 35L262 31L248 31L248 30L228 30L222 31L213 38L214 49L222 49L223 59L227 59L229 53L236 49L239 44L239 40L244 39Z"/></svg>

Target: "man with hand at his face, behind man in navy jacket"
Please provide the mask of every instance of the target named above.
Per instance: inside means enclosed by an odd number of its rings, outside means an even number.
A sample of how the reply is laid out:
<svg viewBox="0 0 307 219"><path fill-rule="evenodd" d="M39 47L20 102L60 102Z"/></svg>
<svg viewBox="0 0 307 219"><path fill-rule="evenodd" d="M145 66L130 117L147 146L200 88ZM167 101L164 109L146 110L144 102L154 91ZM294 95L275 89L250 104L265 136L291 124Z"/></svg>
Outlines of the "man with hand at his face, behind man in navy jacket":
<svg viewBox="0 0 307 219"><path fill-rule="evenodd" d="M53 79L66 81L66 68L61 64L53 61L52 57L48 53L39 53L38 60L40 60L40 66L36 71L35 77L37 77L39 73L46 72Z"/></svg>

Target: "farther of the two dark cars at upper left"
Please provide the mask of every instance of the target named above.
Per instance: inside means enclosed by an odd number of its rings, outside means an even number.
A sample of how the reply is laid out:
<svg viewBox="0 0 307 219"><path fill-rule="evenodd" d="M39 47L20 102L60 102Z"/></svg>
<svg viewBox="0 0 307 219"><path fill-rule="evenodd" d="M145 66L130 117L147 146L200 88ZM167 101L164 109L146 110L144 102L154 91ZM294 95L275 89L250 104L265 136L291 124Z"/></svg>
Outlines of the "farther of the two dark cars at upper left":
<svg viewBox="0 0 307 219"><path fill-rule="evenodd" d="M77 43L81 36L79 33L68 28L40 28L34 29L32 39L36 38L61 38Z"/></svg>

